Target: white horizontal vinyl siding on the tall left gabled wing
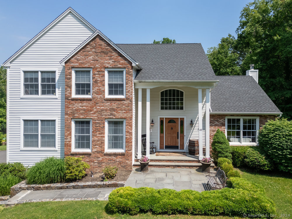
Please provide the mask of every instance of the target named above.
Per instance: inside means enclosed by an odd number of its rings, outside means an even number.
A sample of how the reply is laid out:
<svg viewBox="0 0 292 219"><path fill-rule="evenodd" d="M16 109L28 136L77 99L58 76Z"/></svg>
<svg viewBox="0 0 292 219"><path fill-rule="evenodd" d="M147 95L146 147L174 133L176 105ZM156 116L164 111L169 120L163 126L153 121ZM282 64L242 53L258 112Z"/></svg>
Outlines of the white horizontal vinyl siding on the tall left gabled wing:
<svg viewBox="0 0 292 219"><path fill-rule="evenodd" d="M60 61L79 46L94 31L73 13L68 13L10 64L8 93L8 162L22 162L32 166L45 157L64 157L65 135L65 67ZM24 79L21 70L56 71L56 97L22 95ZM39 90L41 92L41 90ZM20 98L23 96L22 98ZM58 118L55 150L20 150L20 118ZM49 117L49 118L48 118Z"/></svg>

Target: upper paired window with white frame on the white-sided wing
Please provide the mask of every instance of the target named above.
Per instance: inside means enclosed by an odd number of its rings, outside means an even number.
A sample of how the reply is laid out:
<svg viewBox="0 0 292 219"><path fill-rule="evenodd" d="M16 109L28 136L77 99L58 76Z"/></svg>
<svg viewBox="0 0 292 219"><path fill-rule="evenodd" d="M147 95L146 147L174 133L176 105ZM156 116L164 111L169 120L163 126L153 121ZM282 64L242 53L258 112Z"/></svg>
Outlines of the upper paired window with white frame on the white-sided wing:
<svg viewBox="0 0 292 219"><path fill-rule="evenodd" d="M22 97L56 97L56 71L22 70Z"/></svg>

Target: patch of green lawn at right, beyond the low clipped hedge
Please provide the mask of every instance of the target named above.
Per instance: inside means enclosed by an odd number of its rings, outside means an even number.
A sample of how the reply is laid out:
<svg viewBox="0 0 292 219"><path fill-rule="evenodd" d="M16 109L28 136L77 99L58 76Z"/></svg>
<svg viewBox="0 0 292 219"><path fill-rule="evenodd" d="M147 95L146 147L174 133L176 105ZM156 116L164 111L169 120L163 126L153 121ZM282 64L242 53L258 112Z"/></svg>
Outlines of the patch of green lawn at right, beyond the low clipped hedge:
<svg viewBox="0 0 292 219"><path fill-rule="evenodd" d="M277 173L251 173L242 171L242 177L264 187L267 197L276 205L278 216L290 214L292 217L292 175Z"/></svg>

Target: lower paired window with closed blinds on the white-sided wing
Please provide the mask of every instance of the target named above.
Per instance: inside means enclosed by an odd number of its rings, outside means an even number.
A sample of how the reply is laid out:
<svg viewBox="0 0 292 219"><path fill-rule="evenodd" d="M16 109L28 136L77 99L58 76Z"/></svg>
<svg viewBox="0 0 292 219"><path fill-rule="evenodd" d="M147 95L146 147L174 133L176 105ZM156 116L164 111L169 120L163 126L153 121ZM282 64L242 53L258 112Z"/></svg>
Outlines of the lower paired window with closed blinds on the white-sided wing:
<svg viewBox="0 0 292 219"><path fill-rule="evenodd" d="M21 149L56 148L56 119L21 119Z"/></svg>

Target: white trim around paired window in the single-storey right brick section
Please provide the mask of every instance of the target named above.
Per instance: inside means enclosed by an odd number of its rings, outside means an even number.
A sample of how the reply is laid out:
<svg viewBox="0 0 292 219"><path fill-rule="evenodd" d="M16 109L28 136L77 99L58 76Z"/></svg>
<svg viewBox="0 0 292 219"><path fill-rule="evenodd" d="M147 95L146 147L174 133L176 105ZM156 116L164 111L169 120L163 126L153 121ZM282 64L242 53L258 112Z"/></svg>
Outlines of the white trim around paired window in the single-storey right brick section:
<svg viewBox="0 0 292 219"><path fill-rule="evenodd" d="M258 145L258 131L260 129L260 117L247 117L247 116L227 116L225 117L225 136L227 138L227 119L240 119L240 142L229 142L229 145ZM254 142L242 142L242 131L243 131L243 119L256 119L256 143Z"/></svg>

